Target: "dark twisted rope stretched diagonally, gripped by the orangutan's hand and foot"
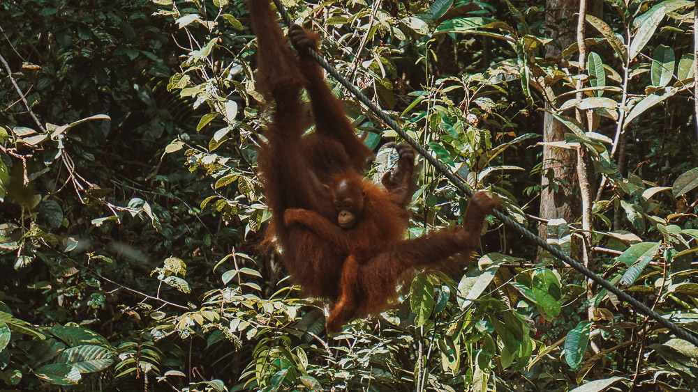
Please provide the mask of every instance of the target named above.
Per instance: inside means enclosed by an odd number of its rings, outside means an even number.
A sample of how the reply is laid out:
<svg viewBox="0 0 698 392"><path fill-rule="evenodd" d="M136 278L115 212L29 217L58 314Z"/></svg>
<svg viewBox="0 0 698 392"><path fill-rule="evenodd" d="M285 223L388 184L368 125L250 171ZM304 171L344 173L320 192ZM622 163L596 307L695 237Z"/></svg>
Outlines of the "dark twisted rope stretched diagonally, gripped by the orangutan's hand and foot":
<svg viewBox="0 0 698 392"><path fill-rule="evenodd" d="M279 10L279 13L281 14L281 17L283 18L285 24L287 26L291 26L290 17L288 16L288 12L281 4L281 1L273 1L274 4L276 4L276 9ZM351 84L346 78L340 75L339 72L337 72L337 70L335 70L334 67L332 67L332 65L329 65L329 63L325 61L325 58L322 58L322 56L320 56L318 52L315 52L310 47L308 48L308 54L313 58L313 60L317 61L318 64L322 66L322 68L325 68L325 70L329 72L329 75L332 75L332 77L334 77L336 81L339 81L339 83L342 86L344 86L348 91L350 91L352 95L357 97L359 101L361 101L364 105L366 105L366 107L371 109L371 111L373 111L373 113L375 113L376 116L380 118L380 120L383 120L389 127L392 128L392 130L397 132L397 134L399 134L402 139L405 139L405 141L407 141L407 143L410 144L410 146L412 146L417 152L419 152L419 155L422 155L422 157L424 157L424 159L426 159L426 161L429 162L429 164L434 166L436 170L443 174L456 188L460 189L468 197L473 196L473 191L468 187L468 185L465 184L465 182L463 182L463 180L461 180L461 178L459 178L456 174L450 171L442 162L440 162L438 158L429 153L429 151L427 151L426 148L424 148L424 146L417 143L417 141L415 141L415 139L408 135L407 132L403 130L398 123L396 123L385 112L383 112L383 110L376 106L376 104L371 102L371 100L369 100L369 98L366 97L364 93L359 91L359 89L356 86ZM559 258L560 260L563 260L567 265L570 265L570 267L577 269L577 271L581 272L581 274L584 274L584 276L586 276L588 279L595 281L602 288L605 288L609 292L612 292L614 295L616 295L616 297L628 302L628 304L630 304L632 308L635 308L639 310L641 313L644 313L645 315L648 315L649 317L653 318L663 327L666 327L670 331L674 332L674 334L676 334L678 338L688 340L693 345L698 346L698 336L691 334L686 329L678 327L678 325L667 320L667 318L662 317L662 315L660 315L659 313L653 311L651 308L649 308L649 306L643 304L637 299L634 299L633 297L630 297L630 295L626 294L623 290L616 288L616 286L611 285L609 281L603 279L601 276L598 276L593 271L591 271L591 269L588 269L577 260L574 260L570 256L567 256L565 253L560 251L560 249L554 248L541 237L538 237L527 228L521 226L517 221L514 221L514 219L509 217L504 212L493 210L492 214L500 221L503 221L505 225L509 226L510 228L513 228L519 234L523 235L523 237L527 240L530 240L537 246L540 246L542 249L549 251L551 255L555 256L556 258Z"/></svg>

